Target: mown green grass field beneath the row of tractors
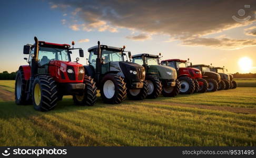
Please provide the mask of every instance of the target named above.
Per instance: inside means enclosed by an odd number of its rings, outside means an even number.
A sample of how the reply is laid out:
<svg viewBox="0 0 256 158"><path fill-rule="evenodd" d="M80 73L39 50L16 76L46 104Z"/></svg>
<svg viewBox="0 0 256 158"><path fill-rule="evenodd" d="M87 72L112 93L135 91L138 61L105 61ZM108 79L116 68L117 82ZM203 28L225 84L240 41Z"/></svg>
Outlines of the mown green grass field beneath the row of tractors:
<svg viewBox="0 0 256 158"><path fill-rule="evenodd" d="M256 87L75 106L50 112L14 103L14 81L0 81L0 146L255 146Z"/></svg>

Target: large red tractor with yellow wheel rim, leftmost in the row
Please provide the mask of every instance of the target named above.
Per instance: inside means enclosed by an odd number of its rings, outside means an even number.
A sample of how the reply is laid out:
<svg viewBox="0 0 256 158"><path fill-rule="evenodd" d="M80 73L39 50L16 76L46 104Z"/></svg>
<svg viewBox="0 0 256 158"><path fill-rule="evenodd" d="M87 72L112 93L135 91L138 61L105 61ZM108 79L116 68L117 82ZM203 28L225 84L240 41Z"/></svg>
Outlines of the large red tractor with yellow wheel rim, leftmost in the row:
<svg viewBox="0 0 256 158"><path fill-rule="evenodd" d="M63 95L73 95L75 104L92 106L96 102L96 85L85 75L82 64L71 62L68 44L38 41L24 45L23 54L29 54L28 65L19 66L15 82L15 102L17 105L33 103L35 110L52 110ZM74 45L74 42L72 42ZM27 58L24 58L27 60Z"/></svg>

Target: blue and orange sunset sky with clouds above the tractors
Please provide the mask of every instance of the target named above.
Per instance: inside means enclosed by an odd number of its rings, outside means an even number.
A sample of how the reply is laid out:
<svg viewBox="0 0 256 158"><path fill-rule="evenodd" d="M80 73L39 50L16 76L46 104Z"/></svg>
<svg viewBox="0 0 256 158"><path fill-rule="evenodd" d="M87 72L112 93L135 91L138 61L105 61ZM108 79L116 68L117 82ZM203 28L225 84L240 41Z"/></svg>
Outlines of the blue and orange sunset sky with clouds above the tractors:
<svg viewBox="0 0 256 158"><path fill-rule="evenodd" d="M190 58L193 64L256 73L256 1L1 1L0 72L26 65L38 40L87 49L126 46L132 55ZM78 52L72 54L72 60ZM242 58L242 60L241 60Z"/></svg>

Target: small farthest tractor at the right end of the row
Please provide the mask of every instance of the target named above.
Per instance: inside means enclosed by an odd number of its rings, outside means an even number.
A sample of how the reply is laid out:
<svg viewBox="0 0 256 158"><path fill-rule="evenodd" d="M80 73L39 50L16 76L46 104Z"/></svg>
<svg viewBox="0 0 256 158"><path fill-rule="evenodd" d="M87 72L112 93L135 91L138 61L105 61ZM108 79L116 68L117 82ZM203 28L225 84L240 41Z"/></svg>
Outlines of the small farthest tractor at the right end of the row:
<svg viewBox="0 0 256 158"><path fill-rule="evenodd" d="M228 74L228 70L224 66L212 67L211 71L220 74L221 80L224 82L224 90L237 88L237 82L233 80L233 75Z"/></svg>

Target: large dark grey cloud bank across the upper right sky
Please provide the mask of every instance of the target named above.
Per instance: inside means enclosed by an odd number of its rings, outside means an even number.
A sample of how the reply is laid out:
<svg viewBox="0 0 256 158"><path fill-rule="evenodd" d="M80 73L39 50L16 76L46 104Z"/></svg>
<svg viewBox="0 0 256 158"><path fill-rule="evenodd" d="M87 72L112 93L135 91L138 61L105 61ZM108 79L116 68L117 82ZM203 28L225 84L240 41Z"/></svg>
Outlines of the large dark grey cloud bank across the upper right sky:
<svg viewBox="0 0 256 158"><path fill-rule="evenodd" d="M148 0L146 3L135 0L77 0L70 3L66 0L55 3L71 6L74 8L74 13L77 8L81 8L76 16L83 19L88 30L115 32L117 28L127 28L136 32L169 35L172 40L186 41L187 44L189 44L188 40L194 38L200 40L207 34L250 25L255 21L256 13L255 0ZM251 7L245 8L245 4L250 4ZM238 13L239 9L244 9L244 16L239 16L241 15ZM247 16L251 18L247 22L240 23L233 20L233 15L240 19ZM235 41L233 39L233 42Z"/></svg>

